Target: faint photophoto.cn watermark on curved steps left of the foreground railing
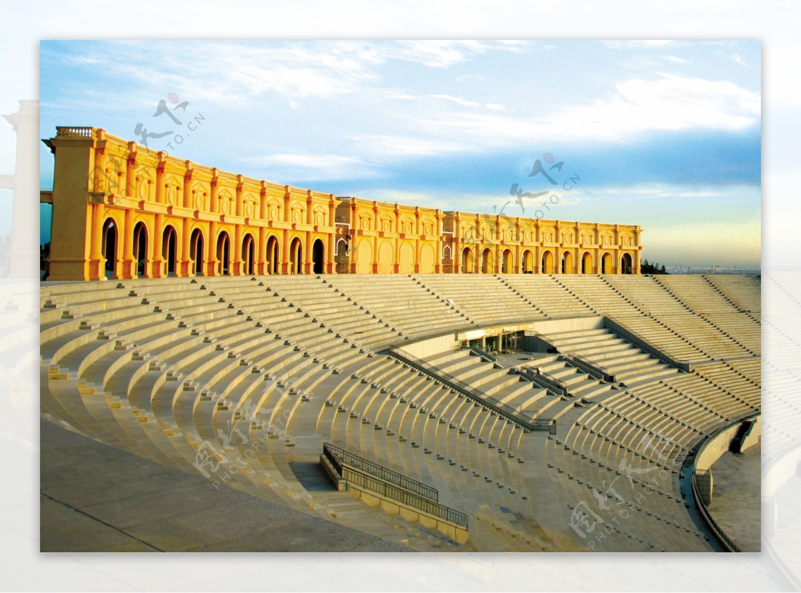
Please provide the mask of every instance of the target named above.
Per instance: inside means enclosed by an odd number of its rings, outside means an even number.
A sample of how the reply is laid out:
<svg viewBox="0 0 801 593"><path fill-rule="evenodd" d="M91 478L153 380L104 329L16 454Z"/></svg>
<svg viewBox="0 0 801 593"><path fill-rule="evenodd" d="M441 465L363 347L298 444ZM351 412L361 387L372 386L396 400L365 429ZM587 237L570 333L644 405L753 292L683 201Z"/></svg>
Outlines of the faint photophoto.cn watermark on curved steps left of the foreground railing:
<svg viewBox="0 0 801 593"><path fill-rule="evenodd" d="M296 378L288 377L288 371L282 369L276 375L271 376L267 386L264 387L264 393L267 393L271 387L275 387L278 403L293 403L295 398L300 398L297 407L301 407L306 403L306 399L304 399L304 394L292 392L291 386L295 382ZM305 395L310 396L312 394ZM259 452L259 447L267 445L268 439L280 439L286 435L286 425L294 413L294 407L290 405L280 415L272 419L267 431L264 431L258 438L248 439L246 434L248 432L247 423L258 422L258 415L266 415L272 411L256 411L256 405L252 402L252 399L248 399L236 409L239 412L238 417L235 414L231 415L231 419L227 422L227 431L223 431L222 428L217 429L216 445L209 440L204 440L201 443L195 454L195 462L192 465L197 468L203 477L211 479L211 485L219 490L223 483L228 483L231 480L232 475L248 467L248 459L253 459ZM246 427L245 431L239 428L239 425L243 422ZM230 459L225 455L226 451L228 451L228 455L231 455ZM232 453L231 451L238 452ZM236 459L233 459L233 455L237 455Z"/></svg>

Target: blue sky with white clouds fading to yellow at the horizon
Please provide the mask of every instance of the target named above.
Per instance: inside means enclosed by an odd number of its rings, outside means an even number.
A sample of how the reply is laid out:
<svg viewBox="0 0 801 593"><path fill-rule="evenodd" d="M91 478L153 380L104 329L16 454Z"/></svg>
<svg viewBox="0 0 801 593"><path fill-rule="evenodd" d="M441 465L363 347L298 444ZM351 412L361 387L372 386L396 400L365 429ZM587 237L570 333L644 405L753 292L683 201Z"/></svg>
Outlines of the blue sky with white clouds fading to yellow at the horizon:
<svg viewBox="0 0 801 593"><path fill-rule="evenodd" d="M147 146L272 182L638 224L650 261L759 267L760 42L42 41L40 60L42 138L165 134Z"/></svg>

